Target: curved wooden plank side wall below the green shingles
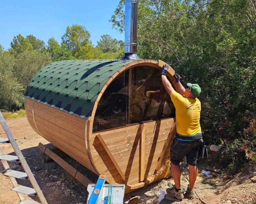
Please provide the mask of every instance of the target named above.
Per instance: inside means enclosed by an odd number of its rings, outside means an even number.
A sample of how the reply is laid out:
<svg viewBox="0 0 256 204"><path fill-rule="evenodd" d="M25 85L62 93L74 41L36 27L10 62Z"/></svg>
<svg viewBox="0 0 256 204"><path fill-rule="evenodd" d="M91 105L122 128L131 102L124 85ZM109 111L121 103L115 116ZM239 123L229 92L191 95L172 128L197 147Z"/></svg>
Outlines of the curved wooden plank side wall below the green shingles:
<svg viewBox="0 0 256 204"><path fill-rule="evenodd" d="M85 145L85 121L55 108L26 99L26 112L32 128L63 152L95 172ZM33 109L34 108L34 109ZM36 122L36 126L33 120ZM45 128L47 127L47 128ZM39 133L38 133L39 134Z"/></svg>

